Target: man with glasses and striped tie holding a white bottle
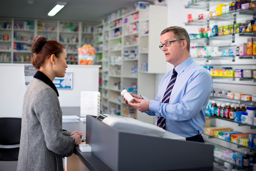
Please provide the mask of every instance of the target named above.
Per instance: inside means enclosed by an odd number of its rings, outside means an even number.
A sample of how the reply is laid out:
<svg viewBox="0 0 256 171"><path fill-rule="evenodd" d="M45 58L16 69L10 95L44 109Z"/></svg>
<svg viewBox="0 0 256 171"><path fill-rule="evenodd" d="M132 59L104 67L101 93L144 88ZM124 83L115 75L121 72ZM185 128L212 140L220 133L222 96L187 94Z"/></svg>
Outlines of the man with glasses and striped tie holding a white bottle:
<svg viewBox="0 0 256 171"><path fill-rule="evenodd" d="M156 116L157 125L186 137L187 141L204 143L204 111L213 89L211 75L190 56L190 37L183 27L171 26L161 32L161 45L166 62L174 67L163 77L154 100L131 94L126 104Z"/></svg>

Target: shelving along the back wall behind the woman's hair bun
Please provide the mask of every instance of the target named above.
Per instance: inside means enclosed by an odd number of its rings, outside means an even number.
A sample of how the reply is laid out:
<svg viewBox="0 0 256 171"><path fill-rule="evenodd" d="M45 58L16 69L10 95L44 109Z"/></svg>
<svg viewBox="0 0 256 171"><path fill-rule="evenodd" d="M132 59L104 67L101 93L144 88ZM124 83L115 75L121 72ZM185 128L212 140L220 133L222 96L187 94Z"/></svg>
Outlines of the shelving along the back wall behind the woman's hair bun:
<svg viewBox="0 0 256 171"><path fill-rule="evenodd" d="M4 53L7 58L0 59L0 63L31 63L34 56L30 50L31 41L37 35L42 35L47 40L57 40L64 45L68 54L67 63L77 64L77 48L84 44L92 45L92 26L95 26L95 23L73 21L0 18L1 25L7 22L9 28L0 28L0 34L7 33L9 37L8 40L0 40L0 56ZM70 25L76 31L67 27ZM24 49L17 50L16 45L21 45Z"/></svg>

